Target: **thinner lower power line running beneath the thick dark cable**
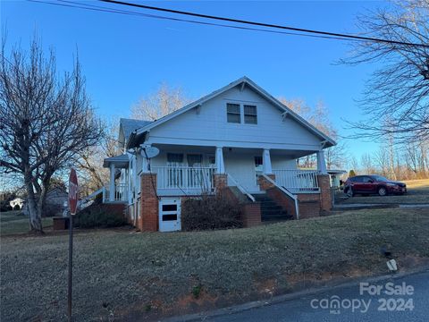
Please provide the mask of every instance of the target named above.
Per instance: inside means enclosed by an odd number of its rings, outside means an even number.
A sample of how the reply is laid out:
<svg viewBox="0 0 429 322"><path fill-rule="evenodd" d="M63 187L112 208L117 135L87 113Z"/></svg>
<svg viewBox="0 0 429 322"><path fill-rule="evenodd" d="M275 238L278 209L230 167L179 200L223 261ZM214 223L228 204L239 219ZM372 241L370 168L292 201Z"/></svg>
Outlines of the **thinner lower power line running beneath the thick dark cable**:
<svg viewBox="0 0 429 322"><path fill-rule="evenodd" d="M39 3L39 4L52 4L52 5L58 5L58 6L63 6L63 7L78 8L78 9L84 9L84 10L90 10L90 11L96 11L96 12L121 13L121 14L127 14L127 15L142 16L142 17L146 17L146 18L155 18L155 19L170 20L170 21L183 21L183 22L196 23L196 24L200 24L200 25L231 28L231 29L238 29L238 30L261 31L261 32L274 33L274 34L282 34L282 35L290 35L290 36L302 36L302 37L310 37L310 38L325 38L325 39L336 39L336 40L358 40L358 39L349 39L349 38L332 37L332 36L306 35L306 34L302 34L302 33L298 33L298 32L288 32L288 31L280 31L280 30L264 30L264 29L258 29L258 28L243 27L243 26L232 26L232 25L226 25L226 24L214 23L214 22L206 22L206 21L192 21L192 20L187 20L187 19L165 17L165 16L160 16L160 15L154 15L154 14L136 13L136 12L128 11L128 10L110 9L108 7L94 5L94 4L79 4L76 2L64 1L64 0L57 0L57 1L61 2L61 3L65 3L65 4L53 3L53 2L48 2L48 1L44 1L44 0L27 0L27 1Z"/></svg>

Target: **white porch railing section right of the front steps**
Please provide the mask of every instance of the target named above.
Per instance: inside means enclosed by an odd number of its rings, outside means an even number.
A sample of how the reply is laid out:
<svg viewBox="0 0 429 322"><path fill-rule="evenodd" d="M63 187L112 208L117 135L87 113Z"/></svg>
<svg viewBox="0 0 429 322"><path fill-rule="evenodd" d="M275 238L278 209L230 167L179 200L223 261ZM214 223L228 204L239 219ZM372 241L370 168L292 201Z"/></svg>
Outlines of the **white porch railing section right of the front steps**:
<svg viewBox="0 0 429 322"><path fill-rule="evenodd" d="M320 191L317 170L273 170L275 182L293 193Z"/></svg>

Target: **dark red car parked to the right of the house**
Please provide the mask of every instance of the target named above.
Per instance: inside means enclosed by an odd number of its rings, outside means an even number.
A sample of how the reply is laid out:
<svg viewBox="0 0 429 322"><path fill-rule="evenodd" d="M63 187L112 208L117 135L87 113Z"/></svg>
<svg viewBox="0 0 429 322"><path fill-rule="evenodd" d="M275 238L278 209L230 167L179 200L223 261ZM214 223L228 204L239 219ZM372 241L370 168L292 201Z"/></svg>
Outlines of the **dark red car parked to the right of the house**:
<svg viewBox="0 0 429 322"><path fill-rule="evenodd" d="M344 183L344 193L349 197L355 194L388 194L407 193L407 185L404 182L395 182L381 175L357 175L347 179Z"/></svg>

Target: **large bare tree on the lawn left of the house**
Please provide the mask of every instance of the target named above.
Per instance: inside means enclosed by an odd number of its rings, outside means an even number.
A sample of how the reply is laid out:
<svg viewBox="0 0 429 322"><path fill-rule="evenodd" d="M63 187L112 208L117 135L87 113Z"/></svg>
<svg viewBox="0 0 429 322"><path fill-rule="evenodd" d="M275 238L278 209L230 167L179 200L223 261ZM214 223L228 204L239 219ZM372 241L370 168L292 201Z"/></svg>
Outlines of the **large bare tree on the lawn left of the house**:
<svg viewBox="0 0 429 322"><path fill-rule="evenodd" d="M80 151L94 146L102 128L91 109L76 60L57 75L55 54L46 58L38 40L29 54L13 47L0 57L0 166L24 182L31 230L43 233L41 216L51 179Z"/></svg>

